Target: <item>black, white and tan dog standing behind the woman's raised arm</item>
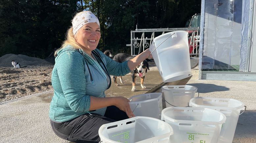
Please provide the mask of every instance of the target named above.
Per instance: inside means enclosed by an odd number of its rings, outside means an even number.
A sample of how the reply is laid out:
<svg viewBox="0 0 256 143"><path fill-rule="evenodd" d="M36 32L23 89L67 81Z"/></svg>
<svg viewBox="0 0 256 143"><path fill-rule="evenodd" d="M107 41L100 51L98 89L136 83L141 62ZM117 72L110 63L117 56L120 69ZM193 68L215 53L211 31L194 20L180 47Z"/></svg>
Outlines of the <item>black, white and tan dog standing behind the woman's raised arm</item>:
<svg viewBox="0 0 256 143"><path fill-rule="evenodd" d="M118 53L114 56L113 60L119 62L119 63L122 63L122 62L125 62L127 60L130 60L134 58L134 56L131 56L129 54L126 54L126 53ZM147 70L149 70L149 65L148 65L148 62L146 60L142 61L132 72L132 91L136 91L136 82L135 82L135 79L137 76L140 76L141 77L141 88L146 88L144 86L144 79L145 79L145 75L147 73ZM116 82L116 76L113 77L114 79L114 82L115 82L115 85L117 86L117 82ZM123 83L123 79L122 79L122 76L120 76L120 82Z"/></svg>

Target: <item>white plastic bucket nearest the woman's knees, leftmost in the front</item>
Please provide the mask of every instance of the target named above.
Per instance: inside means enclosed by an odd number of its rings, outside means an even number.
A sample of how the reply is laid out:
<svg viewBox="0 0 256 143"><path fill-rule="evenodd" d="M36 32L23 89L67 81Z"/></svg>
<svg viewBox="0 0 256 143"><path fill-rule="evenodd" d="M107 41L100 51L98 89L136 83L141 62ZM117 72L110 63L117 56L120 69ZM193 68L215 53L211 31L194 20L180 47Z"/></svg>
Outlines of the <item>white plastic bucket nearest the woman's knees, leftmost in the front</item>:
<svg viewBox="0 0 256 143"><path fill-rule="evenodd" d="M169 143L172 127L151 117L133 117L99 128L102 143Z"/></svg>

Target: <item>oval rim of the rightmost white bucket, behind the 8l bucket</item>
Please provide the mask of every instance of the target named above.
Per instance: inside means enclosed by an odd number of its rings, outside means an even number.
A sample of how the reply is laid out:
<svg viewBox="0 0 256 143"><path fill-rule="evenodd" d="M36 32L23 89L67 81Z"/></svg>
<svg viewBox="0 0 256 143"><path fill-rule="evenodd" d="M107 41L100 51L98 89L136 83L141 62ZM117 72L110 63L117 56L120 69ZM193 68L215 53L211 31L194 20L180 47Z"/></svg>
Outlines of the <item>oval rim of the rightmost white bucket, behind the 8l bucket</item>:
<svg viewBox="0 0 256 143"><path fill-rule="evenodd" d="M210 105L198 105L198 104L195 104L195 100L197 99L211 99L211 100L233 100L235 102L238 102L240 103L240 106L237 106L237 107L220 107L220 106L210 106ZM216 97L194 97L192 99L190 99L189 101L189 104L192 106L192 107L202 107L202 108L212 108L212 107L215 107L216 109L218 110L242 110L243 107L244 107L244 103L242 101L239 101L239 100L236 100L236 99L232 99L232 98L216 98Z"/></svg>

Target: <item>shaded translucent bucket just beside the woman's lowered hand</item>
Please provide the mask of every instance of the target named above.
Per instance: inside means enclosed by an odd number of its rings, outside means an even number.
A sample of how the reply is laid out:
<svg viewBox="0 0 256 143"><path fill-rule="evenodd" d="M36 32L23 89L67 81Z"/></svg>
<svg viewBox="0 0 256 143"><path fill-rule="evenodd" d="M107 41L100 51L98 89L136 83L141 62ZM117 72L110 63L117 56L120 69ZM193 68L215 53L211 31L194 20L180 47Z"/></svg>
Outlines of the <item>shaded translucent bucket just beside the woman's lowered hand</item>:
<svg viewBox="0 0 256 143"><path fill-rule="evenodd" d="M163 110L162 93L146 93L129 98L130 108L135 116L159 119Z"/></svg>

